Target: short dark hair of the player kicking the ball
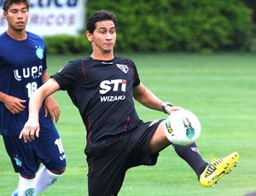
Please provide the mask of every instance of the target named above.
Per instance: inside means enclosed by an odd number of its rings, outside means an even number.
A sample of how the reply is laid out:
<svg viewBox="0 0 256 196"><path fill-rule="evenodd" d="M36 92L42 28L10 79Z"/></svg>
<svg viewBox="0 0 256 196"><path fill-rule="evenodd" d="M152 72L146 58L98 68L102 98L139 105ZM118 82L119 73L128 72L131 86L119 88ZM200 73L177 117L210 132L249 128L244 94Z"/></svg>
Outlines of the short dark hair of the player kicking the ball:
<svg viewBox="0 0 256 196"><path fill-rule="evenodd" d="M117 18L115 14L102 9L90 14L87 22L87 31L93 33L96 29L96 22L102 20L112 20L114 26L117 25Z"/></svg>

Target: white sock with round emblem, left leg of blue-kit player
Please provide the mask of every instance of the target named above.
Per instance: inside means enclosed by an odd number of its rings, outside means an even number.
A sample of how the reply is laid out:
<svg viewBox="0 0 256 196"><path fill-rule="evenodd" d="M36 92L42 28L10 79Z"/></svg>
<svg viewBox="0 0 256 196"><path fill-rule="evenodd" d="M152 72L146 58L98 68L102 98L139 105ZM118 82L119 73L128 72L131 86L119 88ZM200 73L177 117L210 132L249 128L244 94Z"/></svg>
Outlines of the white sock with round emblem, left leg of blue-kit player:
<svg viewBox="0 0 256 196"><path fill-rule="evenodd" d="M26 179L24 177L19 177L19 185L18 185L18 195L19 196L26 196L32 195L35 196L35 182L36 179Z"/></svg>

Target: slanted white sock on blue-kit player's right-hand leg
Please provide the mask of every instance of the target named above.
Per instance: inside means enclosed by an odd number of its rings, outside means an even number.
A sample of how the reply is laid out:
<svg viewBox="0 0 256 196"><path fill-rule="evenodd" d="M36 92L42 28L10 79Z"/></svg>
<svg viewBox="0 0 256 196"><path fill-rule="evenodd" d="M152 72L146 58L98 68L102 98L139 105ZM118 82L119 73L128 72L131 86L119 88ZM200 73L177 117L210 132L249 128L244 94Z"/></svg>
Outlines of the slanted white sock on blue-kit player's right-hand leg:
<svg viewBox="0 0 256 196"><path fill-rule="evenodd" d="M44 190L46 190L50 185L55 183L59 177L62 175L56 175L49 170L46 169L46 167L42 167L41 170L38 171L37 177L36 177L36 193L41 193Z"/></svg>

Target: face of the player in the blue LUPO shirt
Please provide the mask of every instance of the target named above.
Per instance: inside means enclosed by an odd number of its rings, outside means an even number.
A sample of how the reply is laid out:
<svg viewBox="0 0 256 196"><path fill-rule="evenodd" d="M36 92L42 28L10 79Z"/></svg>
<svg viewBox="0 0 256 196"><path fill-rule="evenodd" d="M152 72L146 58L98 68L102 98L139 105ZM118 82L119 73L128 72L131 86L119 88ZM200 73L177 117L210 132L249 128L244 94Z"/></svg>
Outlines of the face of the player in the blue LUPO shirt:
<svg viewBox="0 0 256 196"><path fill-rule="evenodd" d="M13 3L7 12L3 12L8 21L9 28L15 31L23 31L26 28L28 10L25 3Z"/></svg>

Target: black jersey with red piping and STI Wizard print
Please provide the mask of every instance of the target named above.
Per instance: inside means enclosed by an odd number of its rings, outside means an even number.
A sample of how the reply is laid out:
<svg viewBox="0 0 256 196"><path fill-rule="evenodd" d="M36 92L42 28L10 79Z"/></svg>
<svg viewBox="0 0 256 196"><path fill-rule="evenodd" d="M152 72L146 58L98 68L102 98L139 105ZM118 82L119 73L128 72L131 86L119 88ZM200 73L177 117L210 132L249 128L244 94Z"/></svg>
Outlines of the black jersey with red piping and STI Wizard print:
<svg viewBox="0 0 256 196"><path fill-rule="evenodd" d="M130 59L99 61L87 57L70 61L52 78L78 107L87 130L87 145L142 124L132 95L140 78Z"/></svg>

